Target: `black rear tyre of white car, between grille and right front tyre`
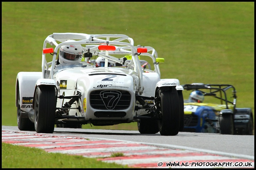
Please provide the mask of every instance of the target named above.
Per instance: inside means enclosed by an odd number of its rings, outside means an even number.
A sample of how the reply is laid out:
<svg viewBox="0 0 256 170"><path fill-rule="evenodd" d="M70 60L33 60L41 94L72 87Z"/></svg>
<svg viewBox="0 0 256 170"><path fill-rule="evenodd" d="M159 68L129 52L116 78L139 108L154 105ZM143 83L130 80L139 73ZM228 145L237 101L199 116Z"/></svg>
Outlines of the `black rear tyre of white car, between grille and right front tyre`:
<svg viewBox="0 0 256 170"><path fill-rule="evenodd" d="M158 121L153 119L140 119L137 121L138 130L141 134L157 134Z"/></svg>

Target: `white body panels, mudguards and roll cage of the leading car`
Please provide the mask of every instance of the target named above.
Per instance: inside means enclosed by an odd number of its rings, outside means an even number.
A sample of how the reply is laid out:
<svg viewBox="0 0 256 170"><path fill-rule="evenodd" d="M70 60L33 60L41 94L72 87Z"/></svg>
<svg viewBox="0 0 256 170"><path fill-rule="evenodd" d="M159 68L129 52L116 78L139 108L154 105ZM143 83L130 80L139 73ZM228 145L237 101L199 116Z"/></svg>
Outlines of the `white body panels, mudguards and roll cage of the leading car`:
<svg viewBox="0 0 256 170"><path fill-rule="evenodd" d="M76 41L65 42L69 39ZM58 41L60 43L58 43ZM90 52L95 58L97 56L105 58L106 63L110 60L111 62L122 64L125 67L106 67L107 64L105 64L105 67L95 67L95 65L91 65L86 62L88 61L87 58L84 62L81 62L80 66L64 67L57 65L57 53L60 46L69 44L81 44L83 46L82 48L84 49L84 53ZM141 46L134 46L133 39L126 35L53 33L44 41L43 49L46 49L49 45L55 46L55 48L52 52L52 56L48 54L46 57L47 53L42 53L42 72L18 73L16 79L16 106L17 88L20 91L20 101L22 101L24 97L32 98L33 101L34 92L37 86L54 85L57 89L58 97L56 108L63 107L63 104L70 100L67 98L59 98L60 96L74 96L78 93L81 94L79 100L72 104L71 108L76 109L70 109L68 113L70 116L84 117L84 119L88 121L97 119L118 119L131 122L134 121L134 116L147 113L144 110L135 111L135 106L140 106L140 104L135 100L135 94L146 97L155 97L156 90L162 86L176 86L177 90L183 90L182 88L179 88L180 83L178 79L160 79L159 62L156 61L157 53L155 49L143 46L143 48L146 48L147 51L152 51L152 53L141 52L138 54L137 49ZM115 50L99 50L100 45L112 45L115 47ZM127 58L127 61L124 61L123 58L127 55L130 57ZM142 68L140 65L139 55L149 56L153 61L154 70ZM49 58L52 59L52 61L47 61ZM130 94L129 106L122 109L122 112L125 112L126 115L121 117L95 116L96 112L102 112L102 109L97 109L90 105L90 94L97 90L104 90L102 94L100 94L101 100L103 101L104 97L110 97L107 96L107 92L110 90L116 92L117 96L120 96L120 94L118 94L119 92L117 92L119 90L128 92ZM116 100L121 99L117 97ZM113 107L108 106L109 103L104 104L111 114L113 114L113 112L119 112L119 110L114 110ZM153 103L149 102L149 104ZM30 101L30 103L27 102L26 104L22 104L21 110L23 112L28 112L31 108L32 102ZM60 119L59 121L68 120Z"/></svg>

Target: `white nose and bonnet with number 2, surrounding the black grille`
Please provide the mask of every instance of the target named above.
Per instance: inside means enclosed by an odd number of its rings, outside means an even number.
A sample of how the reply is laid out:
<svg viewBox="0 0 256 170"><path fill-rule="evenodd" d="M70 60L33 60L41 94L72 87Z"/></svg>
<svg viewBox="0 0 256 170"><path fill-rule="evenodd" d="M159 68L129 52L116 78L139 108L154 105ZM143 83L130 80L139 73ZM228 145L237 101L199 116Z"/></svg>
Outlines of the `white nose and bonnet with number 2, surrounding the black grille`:
<svg viewBox="0 0 256 170"><path fill-rule="evenodd" d="M119 70L116 72L116 70ZM97 72L104 72L104 74L98 74ZM118 73L118 74L117 74ZM89 101L86 99L90 98L90 93L95 90L113 90L121 89L126 90L132 95L132 101L130 107L125 109L124 112L130 113L121 119L132 120L134 116L134 102L135 102L135 80L138 80L138 76L130 70L127 72L127 69L111 69L111 68L73 68L62 70L61 72L54 75L54 79L57 82L63 82L67 80L65 85L66 89L60 89L58 86L58 94L71 96L76 94L77 91L80 91L82 94L82 102L79 102L79 106L82 108L81 112L77 110L70 110L69 115L84 116L86 120L89 119L100 119L94 116L94 113L97 109L90 107ZM105 80L104 80L105 79ZM64 101L63 101L64 100ZM62 99L57 101L57 107L62 107L63 103L67 102L68 99ZM74 104L75 105L75 104ZM75 107L75 106L74 106ZM84 107L84 108L83 108ZM119 119L119 118L113 118Z"/></svg>

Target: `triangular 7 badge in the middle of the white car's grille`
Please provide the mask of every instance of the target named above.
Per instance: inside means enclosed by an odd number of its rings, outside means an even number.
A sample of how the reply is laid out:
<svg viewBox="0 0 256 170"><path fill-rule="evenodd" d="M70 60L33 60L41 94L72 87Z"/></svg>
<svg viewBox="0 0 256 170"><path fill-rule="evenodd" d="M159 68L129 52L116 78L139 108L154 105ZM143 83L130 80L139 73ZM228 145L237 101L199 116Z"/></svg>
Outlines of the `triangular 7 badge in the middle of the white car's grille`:
<svg viewBox="0 0 256 170"><path fill-rule="evenodd" d="M113 110L120 100L122 93L116 90L105 90L100 92L100 96L105 107L108 110Z"/></svg>

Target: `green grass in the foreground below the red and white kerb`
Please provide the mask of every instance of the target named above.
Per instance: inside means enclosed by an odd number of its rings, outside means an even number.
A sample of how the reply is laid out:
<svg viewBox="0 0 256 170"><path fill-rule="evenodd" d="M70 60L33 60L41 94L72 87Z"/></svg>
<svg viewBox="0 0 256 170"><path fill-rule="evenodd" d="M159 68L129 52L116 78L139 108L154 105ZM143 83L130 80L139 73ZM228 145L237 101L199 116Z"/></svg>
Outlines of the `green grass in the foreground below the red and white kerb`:
<svg viewBox="0 0 256 170"><path fill-rule="evenodd" d="M26 155L26 156L24 156ZM122 156L121 153L110 157ZM2 168L128 168L80 155L48 153L42 149L2 143Z"/></svg>

